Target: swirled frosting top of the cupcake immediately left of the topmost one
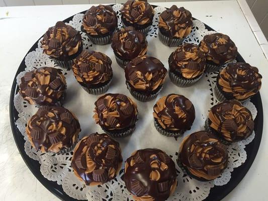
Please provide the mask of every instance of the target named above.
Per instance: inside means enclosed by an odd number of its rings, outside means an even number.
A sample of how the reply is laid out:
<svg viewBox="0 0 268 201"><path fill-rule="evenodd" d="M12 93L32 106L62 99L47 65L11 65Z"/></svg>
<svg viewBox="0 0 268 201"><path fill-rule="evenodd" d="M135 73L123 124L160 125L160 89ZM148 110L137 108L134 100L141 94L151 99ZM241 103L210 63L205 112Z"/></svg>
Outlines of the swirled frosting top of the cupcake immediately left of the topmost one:
<svg viewBox="0 0 268 201"><path fill-rule="evenodd" d="M83 30L93 36L111 34L117 28L117 16L111 6L92 6L82 19Z"/></svg>

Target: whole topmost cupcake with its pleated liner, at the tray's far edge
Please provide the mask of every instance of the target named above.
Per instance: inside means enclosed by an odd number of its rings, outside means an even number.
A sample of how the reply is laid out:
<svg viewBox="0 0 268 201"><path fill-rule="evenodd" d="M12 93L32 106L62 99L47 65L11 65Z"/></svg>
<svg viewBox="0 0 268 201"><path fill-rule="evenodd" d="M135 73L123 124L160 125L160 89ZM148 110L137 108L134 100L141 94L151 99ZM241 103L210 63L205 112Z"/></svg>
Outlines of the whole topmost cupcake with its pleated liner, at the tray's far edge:
<svg viewBox="0 0 268 201"><path fill-rule="evenodd" d="M146 35L152 25L154 10L147 1L127 1L121 9L123 27L134 27Z"/></svg>

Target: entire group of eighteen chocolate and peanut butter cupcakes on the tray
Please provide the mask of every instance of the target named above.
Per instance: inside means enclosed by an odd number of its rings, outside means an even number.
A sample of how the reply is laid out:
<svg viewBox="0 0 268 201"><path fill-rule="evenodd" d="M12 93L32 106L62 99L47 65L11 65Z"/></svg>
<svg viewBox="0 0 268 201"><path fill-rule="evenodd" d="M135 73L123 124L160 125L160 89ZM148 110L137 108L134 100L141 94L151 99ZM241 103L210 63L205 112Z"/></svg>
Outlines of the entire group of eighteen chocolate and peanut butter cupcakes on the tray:
<svg viewBox="0 0 268 201"><path fill-rule="evenodd" d="M93 6L83 16L81 31L94 44L112 43L114 57L124 70L126 87L140 102L157 98L167 72L173 84L188 87L206 71L215 72L226 66L220 70L214 89L221 103L210 109L204 131L184 138L176 160L193 178L216 179L228 165L226 145L245 140L253 132L252 115L241 103L259 91L262 76L248 63L233 63L237 47L227 35L204 36L199 45L184 43L191 34L193 18L190 11L175 5L163 11L158 22L159 40L177 47L166 58L167 70L163 61L146 55L146 34L153 17L154 10L147 1L127 1L121 9L124 28L118 30L118 19L111 6ZM57 22L45 33L41 47L59 67L72 69L87 93L102 94L94 103L93 119L105 133L93 133L77 143L79 121L62 107L67 87L62 70L41 67L26 72L19 85L21 96L39 107L26 127L31 145L41 152L56 154L75 147L71 167L77 178L91 186L113 180L123 162L120 144L114 138L134 132L137 104L125 94L106 93L113 78L111 58L101 52L82 50L80 32L71 26ZM167 137L178 137L191 130L196 118L191 100L177 93L159 97L151 111L155 129ZM136 150L125 161L123 179L135 200L166 200L177 187L176 177L175 163L159 149Z"/></svg>

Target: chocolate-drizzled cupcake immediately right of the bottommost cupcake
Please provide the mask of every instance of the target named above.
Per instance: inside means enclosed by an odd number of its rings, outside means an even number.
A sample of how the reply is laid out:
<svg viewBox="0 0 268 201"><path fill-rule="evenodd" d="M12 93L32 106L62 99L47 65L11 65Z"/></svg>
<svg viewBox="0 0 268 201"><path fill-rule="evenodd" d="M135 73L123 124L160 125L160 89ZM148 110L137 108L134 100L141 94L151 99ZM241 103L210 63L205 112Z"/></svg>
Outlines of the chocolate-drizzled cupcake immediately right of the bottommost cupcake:
<svg viewBox="0 0 268 201"><path fill-rule="evenodd" d="M177 158L193 178L209 181L219 177L228 165L228 152L214 135L199 131L184 138Z"/></svg>

